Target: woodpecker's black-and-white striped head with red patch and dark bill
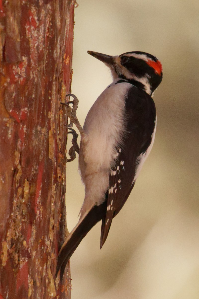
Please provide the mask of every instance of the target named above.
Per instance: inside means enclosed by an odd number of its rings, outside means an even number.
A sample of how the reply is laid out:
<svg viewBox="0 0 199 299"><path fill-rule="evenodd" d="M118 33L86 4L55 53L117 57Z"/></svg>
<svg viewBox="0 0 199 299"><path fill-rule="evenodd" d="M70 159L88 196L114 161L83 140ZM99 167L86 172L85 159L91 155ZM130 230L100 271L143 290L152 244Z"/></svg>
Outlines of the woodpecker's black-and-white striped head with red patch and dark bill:
<svg viewBox="0 0 199 299"><path fill-rule="evenodd" d="M88 51L88 54L104 62L111 70L113 79L124 79L137 83L137 86L149 95L162 81L161 62L153 55L145 52L127 52L119 56L109 56Z"/></svg>

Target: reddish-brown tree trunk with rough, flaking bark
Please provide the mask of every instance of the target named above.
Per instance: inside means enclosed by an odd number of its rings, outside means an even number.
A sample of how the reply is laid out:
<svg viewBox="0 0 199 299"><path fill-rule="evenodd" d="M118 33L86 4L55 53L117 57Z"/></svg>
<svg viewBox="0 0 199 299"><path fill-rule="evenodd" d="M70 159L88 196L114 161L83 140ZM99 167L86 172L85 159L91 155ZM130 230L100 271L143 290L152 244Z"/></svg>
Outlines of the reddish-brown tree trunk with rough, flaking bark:
<svg viewBox="0 0 199 299"><path fill-rule="evenodd" d="M70 298L66 234L73 0L0 0L0 299Z"/></svg>

